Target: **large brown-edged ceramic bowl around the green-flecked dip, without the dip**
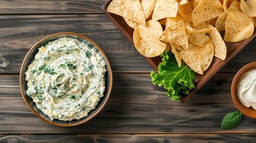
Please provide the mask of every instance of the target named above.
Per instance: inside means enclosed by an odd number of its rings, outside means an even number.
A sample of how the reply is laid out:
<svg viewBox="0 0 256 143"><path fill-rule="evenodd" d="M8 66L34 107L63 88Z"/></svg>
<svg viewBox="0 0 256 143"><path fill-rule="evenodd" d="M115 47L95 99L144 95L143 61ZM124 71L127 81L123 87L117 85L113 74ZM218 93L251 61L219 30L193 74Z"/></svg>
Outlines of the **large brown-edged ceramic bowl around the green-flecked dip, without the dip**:
<svg viewBox="0 0 256 143"><path fill-rule="evenodd" d="M79 120L72 120L70 122L69 121L64 122L64 121L55 120L55 119L51 120L47 115L42 113L42 111L36 107L36 104L35 104L35 102L33 102L32 98L28 97L26 94L27 82L25 80L25 74L24 74L27 70L27 67L29 66L31 61L34 59L35 54L38 52L39 47L41 47L42 45L45 45L45 43L47 43L49 41L54 41L55 39L62 38L64 36L69 37L69 38L78 39L78 41L87 43L87 45L90 48L95 48L96 51L98 52L98 54L100 54L101 57L103 57L103 60L106 63L106 70L107 70L105 73L106 89L104 92L104 96L100 98L100 101L98 102L98 105L96 106L96 108L94 110L90 111L90 113L88 113L87 117L84 117ZM110 67L109 60L107 59L106 55L104 54L104 52L102 51L100 46L98 46L95 42L93 42L91 39L89 39L83 35L79 35L77 33L70 33L70 32L56 33L56 34L47 36L46 38L42 39L41 41L36 43L34 46L32 46L32 48L29 50L29 52L27 52L27 55L24 58L23 63L21 65L21 69L20 69L20 91L21 91L23 100L27 104L27 107L29 107L29 109L40 119L42 119L45 122L50 123L52 125L56 125L56 126L76 126L76 125L85 123L88 120L95 117L103 109L104 105L106 105L107 100L109 99L109 96L110 96L111 89L112 89L112 70Z"/></svg>

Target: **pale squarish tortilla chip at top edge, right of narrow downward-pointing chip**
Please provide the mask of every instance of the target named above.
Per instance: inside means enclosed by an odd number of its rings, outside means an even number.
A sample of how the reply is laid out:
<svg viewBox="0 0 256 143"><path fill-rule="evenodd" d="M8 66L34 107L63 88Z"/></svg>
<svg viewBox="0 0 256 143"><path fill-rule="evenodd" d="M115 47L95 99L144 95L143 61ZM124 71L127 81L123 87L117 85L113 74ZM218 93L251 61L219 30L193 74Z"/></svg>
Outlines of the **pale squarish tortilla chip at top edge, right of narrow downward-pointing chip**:
<svg viewBox="0 0 256 143"><path fill-rule="evenodd" d="M152 19L161 20L166 17L176 17L178 12L178 2L175 0L158 0L153 11Z"/></svg>

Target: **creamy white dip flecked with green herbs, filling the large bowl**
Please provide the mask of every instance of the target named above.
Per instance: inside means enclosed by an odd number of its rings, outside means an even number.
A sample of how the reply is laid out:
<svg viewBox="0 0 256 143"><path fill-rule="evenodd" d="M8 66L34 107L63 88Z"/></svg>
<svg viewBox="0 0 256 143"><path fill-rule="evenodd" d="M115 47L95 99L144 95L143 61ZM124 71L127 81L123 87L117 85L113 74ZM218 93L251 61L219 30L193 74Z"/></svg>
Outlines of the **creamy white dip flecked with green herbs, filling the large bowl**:
<svg viewBox="0 0 256 143"><path fill-rule="evenodd" d="M39 48L25 75L27 95L51 120L78 120L105 90L105 63L87 44L59 38Z"/></svg>

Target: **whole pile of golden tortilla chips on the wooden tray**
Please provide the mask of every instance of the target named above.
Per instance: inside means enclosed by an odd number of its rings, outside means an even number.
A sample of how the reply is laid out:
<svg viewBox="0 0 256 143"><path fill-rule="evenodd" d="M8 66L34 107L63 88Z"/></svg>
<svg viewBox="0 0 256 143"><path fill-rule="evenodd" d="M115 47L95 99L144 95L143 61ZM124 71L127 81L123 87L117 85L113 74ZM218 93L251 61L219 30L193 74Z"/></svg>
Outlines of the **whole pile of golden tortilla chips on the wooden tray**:
<svg viewBox="0 0 256 143"><path fill-rule="evenodd" d="M243 41L254 32L255 0L113 0L109 13L124 17L134 28L135 48L145 57L165 50L199 74L212 58L226 59L224 40ZM164 28L163 28L164 27Z"/></svg>

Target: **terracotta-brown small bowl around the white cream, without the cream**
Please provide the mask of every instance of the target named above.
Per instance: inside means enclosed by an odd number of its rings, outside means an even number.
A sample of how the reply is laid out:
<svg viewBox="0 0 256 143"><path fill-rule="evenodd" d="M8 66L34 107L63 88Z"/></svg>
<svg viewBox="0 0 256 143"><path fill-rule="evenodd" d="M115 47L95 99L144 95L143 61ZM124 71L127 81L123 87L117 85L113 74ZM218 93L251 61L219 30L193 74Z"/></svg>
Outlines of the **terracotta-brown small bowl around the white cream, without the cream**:
<svg viewBox="0 0 256 143"><path fill-rule="evenodd" d="M246 68L248 67L248 68ZM246 64L245 66L243 66L238 73L236 73L233 81L232 81L232 85L231 85L231 97L232 97L232 101L235 104L236 108L245 116L247 117L251 117L256 119L256 114L251 114L251 113L256 113L256 110L254 110L251 107L245 107L245 105L243 105L240 100L238 99L238 95L237 95L237 91L236 91L236 87L239 83L240 78L243 76L243 74L246 73L246 71L252 70L252 69L256 69L256 61Z"/></svg>

